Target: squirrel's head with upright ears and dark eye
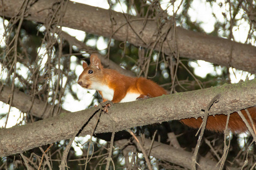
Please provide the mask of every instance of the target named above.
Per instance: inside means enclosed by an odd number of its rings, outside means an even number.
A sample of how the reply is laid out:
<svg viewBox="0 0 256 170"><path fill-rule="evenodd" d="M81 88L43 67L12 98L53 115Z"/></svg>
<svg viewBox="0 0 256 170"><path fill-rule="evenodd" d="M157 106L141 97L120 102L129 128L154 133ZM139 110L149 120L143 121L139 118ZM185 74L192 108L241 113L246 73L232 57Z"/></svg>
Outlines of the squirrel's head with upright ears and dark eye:
<svg viewBox="0 0 256 170"><path fill-rule="evenodd" d="M90 55L90 65L86 62L82 63L84 71L79 76L77 83L84 88L95 89L98 83L101 83L103 78L103 66L98 58L97 54L93 53Z"/></svg>

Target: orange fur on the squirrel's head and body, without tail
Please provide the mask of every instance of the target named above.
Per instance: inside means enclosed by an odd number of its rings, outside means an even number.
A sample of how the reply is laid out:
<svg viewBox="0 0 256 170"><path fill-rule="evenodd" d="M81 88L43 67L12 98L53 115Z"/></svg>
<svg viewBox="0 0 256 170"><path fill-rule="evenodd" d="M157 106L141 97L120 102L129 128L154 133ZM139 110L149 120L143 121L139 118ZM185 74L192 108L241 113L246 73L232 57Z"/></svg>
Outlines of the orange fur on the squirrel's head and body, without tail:
<svg viewBox="0 0 256 170"><path fill-rule="evenodd" d="M90 62L90 66L86 63L82 64L84 71L79 76L78 83L80 86L88 89L92 89L91 86L93 82L105 84L114 91L112 99L113 103L119 103L127 93L150 95L152 97L167 94L164 88L158 86L158 84L151 80L145 78L132 78L130 76L122 75L118 73L118 71L112 69L104 69L96 54L92 54ZM93 70L93 74L88 74L89 70ZM103 101L106 101L102 91L98 91L102 96Z"/></svg>

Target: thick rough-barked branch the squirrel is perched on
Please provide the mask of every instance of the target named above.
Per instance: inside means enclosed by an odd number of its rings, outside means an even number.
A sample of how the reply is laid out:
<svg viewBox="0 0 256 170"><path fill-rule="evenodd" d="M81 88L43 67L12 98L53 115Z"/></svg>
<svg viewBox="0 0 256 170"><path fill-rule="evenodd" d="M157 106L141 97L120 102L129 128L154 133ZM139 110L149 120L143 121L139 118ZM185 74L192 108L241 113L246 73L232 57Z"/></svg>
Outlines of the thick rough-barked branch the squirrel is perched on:
<svg viewBox="0 0 256 170"><path fill-rule="evenodd" d="M116 129L125 130L135 126L156 122L180 120L181 118L200 117L201 111L210 100L220 94L218 103L213 104L209 114L228 114L256 103L256 79L238 84L212 87L204 90L165 95L130 103L114 104L110 113L102 114L95 133L110 132L115 121ZM86 115L92 115L97 108L60 114L59 116L31 124L0 130L0 156L17 154L34 147L69 139L77 133L81 124L86 123ZM86 123L80 135L92 132L97 117Z"/></svg>

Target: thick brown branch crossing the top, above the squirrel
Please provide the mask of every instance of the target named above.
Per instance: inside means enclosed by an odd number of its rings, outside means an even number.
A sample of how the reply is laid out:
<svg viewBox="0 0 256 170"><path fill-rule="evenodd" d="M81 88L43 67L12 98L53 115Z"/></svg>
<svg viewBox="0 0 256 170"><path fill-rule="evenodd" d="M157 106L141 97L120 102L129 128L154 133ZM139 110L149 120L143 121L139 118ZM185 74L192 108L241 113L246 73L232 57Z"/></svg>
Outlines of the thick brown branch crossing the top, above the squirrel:
<svg viewBox="0 0 256 170"><path fill-rule="evenodd" d="M26 19L44 23L52 11L52 4L58 1L40 0L27 8ZM4 0L0 4L2 16L13 17L18 14L22 0ZM82 31L112 37L119 41L129 41L137 46L160 50L158 40L163 40L162 51L171 54L179 49L182 57L203 59L218 65L256 73L256 47L230 41L220 37L212 37L203 33L188 31L176 27L176 38L171 23L166 23L159 30L154 19L129 16L112 11L113 25L110 21L109 10L98 7L69 2L63 18L63 26ZM113 29L112 29L113 26ZM171 29L171 30L170 30ZM166 35L168 33L168 35ZM159 38L160 37L160 38ZM177 46L176 46L177 43Z"/></svg>

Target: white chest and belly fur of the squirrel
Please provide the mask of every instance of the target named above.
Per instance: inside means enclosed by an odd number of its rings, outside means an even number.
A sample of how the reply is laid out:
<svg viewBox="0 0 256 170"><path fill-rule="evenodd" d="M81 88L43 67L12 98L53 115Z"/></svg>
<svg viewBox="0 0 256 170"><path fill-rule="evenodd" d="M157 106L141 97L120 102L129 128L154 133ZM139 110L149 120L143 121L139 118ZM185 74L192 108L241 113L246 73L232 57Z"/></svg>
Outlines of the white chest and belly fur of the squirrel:
<svg viewBox="0 0 256 170"><path fill-rule="evenodd" d="M98 91L102 92L102 95L104 99L113 100L114 96L114 90L112 88L109 88L106 85L102 84L92 84L92 88ZM141 94L134 94L134 93L127 93L125 97L120 101L120 103L129 102L129 101L135 101L137 97L139 97Z"/></svg>

